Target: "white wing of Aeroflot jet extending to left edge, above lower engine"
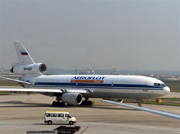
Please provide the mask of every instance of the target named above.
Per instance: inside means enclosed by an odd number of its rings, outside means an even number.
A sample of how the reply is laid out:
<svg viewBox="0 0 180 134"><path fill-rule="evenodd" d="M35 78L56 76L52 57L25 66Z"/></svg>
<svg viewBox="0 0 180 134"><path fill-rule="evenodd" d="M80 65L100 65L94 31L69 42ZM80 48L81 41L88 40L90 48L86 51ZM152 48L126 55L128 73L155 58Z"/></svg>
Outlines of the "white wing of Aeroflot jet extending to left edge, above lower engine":
<svg viewBox="0 0 180 134"><path fill-rule="evenodd" d="M40 88L0 88L0 91L37 92L37 93L82 93L89 94L87 89L40 89Z"/></svg>

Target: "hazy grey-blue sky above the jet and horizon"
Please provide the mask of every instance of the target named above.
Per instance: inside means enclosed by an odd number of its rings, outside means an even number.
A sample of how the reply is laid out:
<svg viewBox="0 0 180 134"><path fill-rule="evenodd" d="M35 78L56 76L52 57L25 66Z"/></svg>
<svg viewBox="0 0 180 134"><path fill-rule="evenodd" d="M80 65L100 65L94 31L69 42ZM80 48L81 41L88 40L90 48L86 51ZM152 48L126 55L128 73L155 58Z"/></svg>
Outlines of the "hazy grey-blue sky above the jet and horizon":
<svg viewBox="0 0 180 134"><path fill-rule="evenodd" d="M180 71L180 1L0 0L0 68L14 41L52 69Z"/></svg>

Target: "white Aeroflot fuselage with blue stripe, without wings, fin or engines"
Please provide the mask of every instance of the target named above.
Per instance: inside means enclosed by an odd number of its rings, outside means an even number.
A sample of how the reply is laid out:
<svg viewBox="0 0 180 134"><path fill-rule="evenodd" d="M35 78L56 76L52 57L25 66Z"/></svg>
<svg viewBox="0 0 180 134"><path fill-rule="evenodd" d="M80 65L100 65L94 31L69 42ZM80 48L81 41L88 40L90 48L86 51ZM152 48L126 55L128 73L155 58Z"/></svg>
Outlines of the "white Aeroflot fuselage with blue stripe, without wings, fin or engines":
<svg viewBox="0 0 180 134"><path fill-rule="evenodd" d="M90 94L83 97L90 98L147 99L170 92L162 81L136 75L40 75L21 80L33 88L85 89Z"/></svg>

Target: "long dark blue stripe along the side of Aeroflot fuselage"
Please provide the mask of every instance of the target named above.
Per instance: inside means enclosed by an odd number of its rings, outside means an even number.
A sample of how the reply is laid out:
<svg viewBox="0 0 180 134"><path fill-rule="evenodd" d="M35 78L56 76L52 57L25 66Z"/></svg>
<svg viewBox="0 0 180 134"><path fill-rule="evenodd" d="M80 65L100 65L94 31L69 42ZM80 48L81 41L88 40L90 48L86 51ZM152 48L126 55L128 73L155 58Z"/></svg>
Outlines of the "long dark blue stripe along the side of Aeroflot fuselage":
<svg viewBox="0 0 180 134"><path fill-rule="evenodd" d="M85 88L151 88L161 89L162 87L154 87L148 85L136 84L94 84L94 83L59 83L59 82L36 82L36 86L71 86L71 87L85 87Z"/></svg>

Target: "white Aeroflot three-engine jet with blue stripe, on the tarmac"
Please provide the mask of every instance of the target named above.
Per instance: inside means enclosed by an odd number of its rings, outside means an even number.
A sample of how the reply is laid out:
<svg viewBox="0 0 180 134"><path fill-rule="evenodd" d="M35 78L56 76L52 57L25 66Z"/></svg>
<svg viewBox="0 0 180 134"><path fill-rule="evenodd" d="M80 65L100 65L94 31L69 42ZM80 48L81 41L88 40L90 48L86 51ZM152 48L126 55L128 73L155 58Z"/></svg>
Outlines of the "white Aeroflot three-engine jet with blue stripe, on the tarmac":
<svg viewBox="0 0 180 134"><path fill-rule="evenodd" d="M14 42L14 46L19 62L10 71L22 77L19 80L0 78L18 82L24 88L1 88L0 91L26 91L55 96L53 106L92 105L89 98L103 98L121 102L122 99L136 99L140 107L141 100L170 92L170 88L162 81L139 75L45 75L45 64L35 63L21 42Z"/></svg>

